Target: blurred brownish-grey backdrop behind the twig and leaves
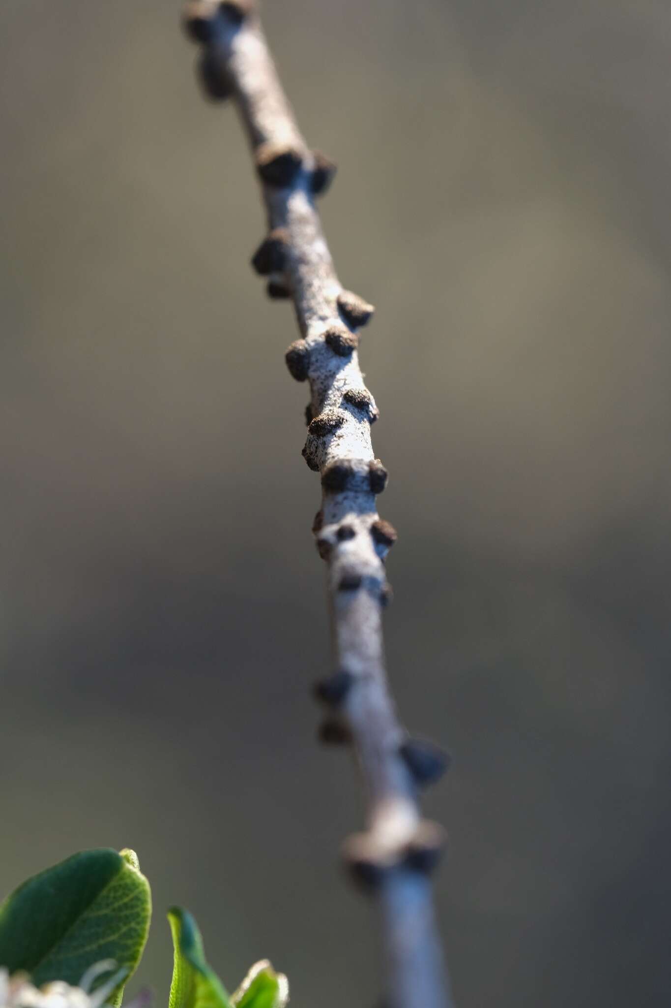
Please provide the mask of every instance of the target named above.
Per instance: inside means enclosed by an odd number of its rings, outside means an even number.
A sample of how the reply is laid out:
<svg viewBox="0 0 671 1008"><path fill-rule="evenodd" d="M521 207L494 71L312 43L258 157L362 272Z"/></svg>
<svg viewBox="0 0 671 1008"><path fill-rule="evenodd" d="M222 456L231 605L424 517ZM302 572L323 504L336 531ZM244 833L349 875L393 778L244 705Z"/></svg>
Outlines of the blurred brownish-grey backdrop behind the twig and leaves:
<svg viewBox="0 0 671 1008"><path fill-rule="evenodd" d="M461 1008L671 991L671 9L282 0L389 468L390 675ZM292 311L234 112L166 0L3 0L0 892L132 846L233 986L377 997L361 823L314 742L324 573Z"/></svg>

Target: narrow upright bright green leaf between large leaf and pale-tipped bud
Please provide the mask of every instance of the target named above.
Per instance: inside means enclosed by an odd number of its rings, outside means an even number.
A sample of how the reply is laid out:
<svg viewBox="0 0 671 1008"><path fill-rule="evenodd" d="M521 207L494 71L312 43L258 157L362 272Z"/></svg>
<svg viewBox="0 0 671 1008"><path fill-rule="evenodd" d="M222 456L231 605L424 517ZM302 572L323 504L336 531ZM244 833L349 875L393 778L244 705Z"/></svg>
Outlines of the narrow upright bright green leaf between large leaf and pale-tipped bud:
<svg viewBox="0 0 671 1008"><path fill-rule="evenodd" d="M230 1008L221 981L205 962L195 920L179 906L168 911L175 947L169 1008Z"/></svg>

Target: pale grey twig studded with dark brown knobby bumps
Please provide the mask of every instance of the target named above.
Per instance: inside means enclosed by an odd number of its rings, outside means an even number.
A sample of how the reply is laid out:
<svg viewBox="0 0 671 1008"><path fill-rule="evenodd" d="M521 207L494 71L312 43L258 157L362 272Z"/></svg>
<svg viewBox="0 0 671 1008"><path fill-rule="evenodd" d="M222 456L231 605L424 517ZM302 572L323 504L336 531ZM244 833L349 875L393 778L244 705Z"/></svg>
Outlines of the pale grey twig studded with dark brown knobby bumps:
<svg viewBox="0 0 671 1008"><path fill-rule="evenodd" d="M345 859L381 909L385 1004L448 1008L428 877L444 832L421 820L416 793L447 760L400 727L384 670L381 609L390 594L384 559L396 533L375 507L387 474L372 451L378 411L357 353L357 331L373 307L344 290L336 275L314 205L335 165L303 139L253 3L194 0L184 24L202 45L205 94L234 100L254 152L269 233L253 265L268 278L271 296L292 298L302 336L286 360L292 376L311 389L303 455L321 474L313 531L328 561L336 668L316 686L328 711L320 735L353 743L367 791L367 829L346 842Z"/></svg>

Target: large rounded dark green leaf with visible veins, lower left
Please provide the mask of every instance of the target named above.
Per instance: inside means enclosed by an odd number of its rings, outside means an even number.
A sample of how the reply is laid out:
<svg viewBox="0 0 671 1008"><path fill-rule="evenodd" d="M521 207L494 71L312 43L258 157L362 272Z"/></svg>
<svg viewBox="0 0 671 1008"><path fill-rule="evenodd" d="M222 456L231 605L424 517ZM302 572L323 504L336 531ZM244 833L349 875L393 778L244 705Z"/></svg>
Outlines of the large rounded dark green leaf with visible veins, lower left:
<svg viewBox="0 0 671 1008"><path fill-rule="evenodd" d="M0 905L0 966L36 986L76 985L101 960L134 973L151 918L151 894L133 851L83 851L19 886ZM101 978L101 982L102 982ZM120 1005L123 985L109 999Z"/></svg>

